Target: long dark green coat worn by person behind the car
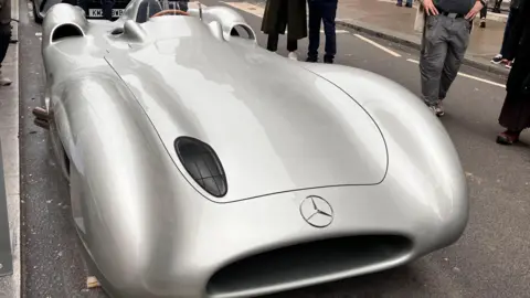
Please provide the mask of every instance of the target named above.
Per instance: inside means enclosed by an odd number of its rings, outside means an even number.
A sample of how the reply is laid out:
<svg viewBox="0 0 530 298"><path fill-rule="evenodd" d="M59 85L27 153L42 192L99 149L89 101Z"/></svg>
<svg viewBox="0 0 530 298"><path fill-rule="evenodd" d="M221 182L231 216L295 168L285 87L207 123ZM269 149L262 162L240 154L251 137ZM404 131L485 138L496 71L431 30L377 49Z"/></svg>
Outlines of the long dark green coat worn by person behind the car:
<svg viewBox="0 0 530 298"><path fill-rule="evenodd" d="M295 40L307 38L306 0L267 0L262 31L285 34Z"/></svg>

